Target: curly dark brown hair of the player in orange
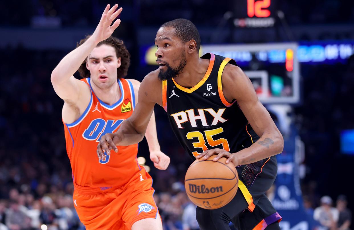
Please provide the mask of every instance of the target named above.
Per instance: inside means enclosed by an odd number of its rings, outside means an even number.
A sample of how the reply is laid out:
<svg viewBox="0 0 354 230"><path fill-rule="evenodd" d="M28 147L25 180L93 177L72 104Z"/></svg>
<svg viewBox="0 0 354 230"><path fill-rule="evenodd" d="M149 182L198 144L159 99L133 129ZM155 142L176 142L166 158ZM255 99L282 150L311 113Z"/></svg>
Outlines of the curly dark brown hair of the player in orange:
<svg viewBox="0 0 354 230"><path fill-rule="evenodd" d="M87 39L89 39L91 35L87 35L84 39L81 39L80 42L77 43L76 47L81 46ZM115 49L117 54L117 58L120 58L120 67L117 68L117 78L124 78L128 74L128 68L130 65L130 53L124 45L124 42L116 37L110 36L108 39L105 39L97 44L96 47L101 45L109 45ZM90 71L86 68L87 58L82 62L79 67L79 73L82 78L90 77Z"/></svg>

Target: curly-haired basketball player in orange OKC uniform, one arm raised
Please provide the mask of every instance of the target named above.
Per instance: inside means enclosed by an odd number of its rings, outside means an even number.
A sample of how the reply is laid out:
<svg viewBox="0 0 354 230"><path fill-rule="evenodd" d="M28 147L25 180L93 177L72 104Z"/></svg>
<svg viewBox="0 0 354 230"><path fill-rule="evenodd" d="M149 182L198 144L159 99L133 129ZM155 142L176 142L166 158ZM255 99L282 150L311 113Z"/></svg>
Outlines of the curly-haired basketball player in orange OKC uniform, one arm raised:
<svg viewBox="0 0 354 230"><path fill-rule="evenodd" d="M152 178L136 160L137 144L120 146L115 155L97 159L97 142L107 132L120 129L136 108L140 82L124 79L130 54L123 42L112 37L122 11L107 5L91 35L67 54L53 70L55 92L64 100L62 118L67 153L73 171L73 200L88 230L162 230ZM84 79L75 79L79 69ZM150 158L166 169L170 158L160 151L155 118L147 126ZM146 128L146 127L145 127Z"/></svg>

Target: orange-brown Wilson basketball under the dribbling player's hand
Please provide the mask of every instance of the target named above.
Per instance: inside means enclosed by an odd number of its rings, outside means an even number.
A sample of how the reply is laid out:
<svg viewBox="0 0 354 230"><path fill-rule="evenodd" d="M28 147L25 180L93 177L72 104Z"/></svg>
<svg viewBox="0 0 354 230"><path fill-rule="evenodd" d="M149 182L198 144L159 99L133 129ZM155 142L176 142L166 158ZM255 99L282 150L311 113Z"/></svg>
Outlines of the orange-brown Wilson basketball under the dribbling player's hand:
<svg viewBox="0 0 354 230"><path fill-rule="evenodd" d="M184 187L189 199L205 209L216 209L230 202L238 189L239 177L234 164L227 158L214 162L216 155L207 160L195 160L188 168Z"/></svg>

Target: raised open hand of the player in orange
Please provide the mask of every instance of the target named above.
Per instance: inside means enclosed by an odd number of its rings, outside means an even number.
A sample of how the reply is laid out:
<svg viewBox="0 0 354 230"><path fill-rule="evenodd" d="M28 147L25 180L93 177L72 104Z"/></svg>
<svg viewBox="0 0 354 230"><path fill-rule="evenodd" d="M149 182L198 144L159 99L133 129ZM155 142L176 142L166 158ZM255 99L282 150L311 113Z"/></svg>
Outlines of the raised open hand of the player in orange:
<svg viewBox="0 0 354 230"><path fill-rule="evenodd" d="M110 5L108 4L104 9L101 20L99 21L95 32L92 34L92 37L97 43L108 39L108 37L113 34L113 31L120 24L120 19L117 19L113 25L111 25L113 20L117 18L120 12L122 12L123 8L120 7L117 11L115 11L118 8L118 4L115 4L111 9L109 9L109 7Z"/></svg>

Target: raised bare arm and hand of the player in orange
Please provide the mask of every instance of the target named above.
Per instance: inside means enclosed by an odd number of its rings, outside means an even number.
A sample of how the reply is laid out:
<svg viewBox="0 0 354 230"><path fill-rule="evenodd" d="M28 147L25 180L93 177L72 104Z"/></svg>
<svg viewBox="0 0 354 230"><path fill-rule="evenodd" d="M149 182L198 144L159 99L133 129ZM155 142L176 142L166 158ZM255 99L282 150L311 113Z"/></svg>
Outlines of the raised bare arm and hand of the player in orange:
<svg viewBox="0 0 354 230"><path fill-rule="evenodd" d="M75 79L74 73L97 44L112 35L113 31L119 26L120 19L117 19L113 25L111 24L122 11L122 8L115 11L118 8L117 4L111 9L109 8L110 5L107 5L104 9L101 20L92 36L81 46L67 54L53 70L51 82L55 92L63 100L76 101L80 98L82 88L87 86L84 82ZM89 93L89 90L87 90L87 93Z"/></svg>

